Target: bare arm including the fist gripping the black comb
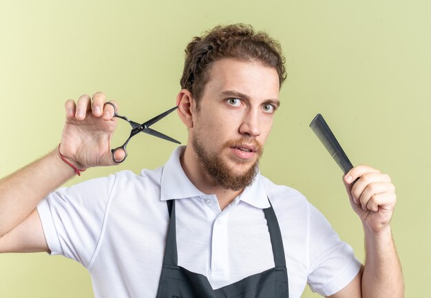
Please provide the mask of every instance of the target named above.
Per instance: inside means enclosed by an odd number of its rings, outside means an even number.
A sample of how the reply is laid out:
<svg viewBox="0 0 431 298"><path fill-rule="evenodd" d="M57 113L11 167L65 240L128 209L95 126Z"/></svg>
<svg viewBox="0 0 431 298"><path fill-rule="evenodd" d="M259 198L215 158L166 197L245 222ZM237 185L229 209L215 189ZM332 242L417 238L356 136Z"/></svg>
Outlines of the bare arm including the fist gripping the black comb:
<svg viewBox="0 0 431 298"><path fill-rule="evenodd" d="M345 175L344 184L350 204L364 226L366 262L346 288L330 297L404 297L401 264L390 229L397 200L390 177L359 166Z"/></svg>

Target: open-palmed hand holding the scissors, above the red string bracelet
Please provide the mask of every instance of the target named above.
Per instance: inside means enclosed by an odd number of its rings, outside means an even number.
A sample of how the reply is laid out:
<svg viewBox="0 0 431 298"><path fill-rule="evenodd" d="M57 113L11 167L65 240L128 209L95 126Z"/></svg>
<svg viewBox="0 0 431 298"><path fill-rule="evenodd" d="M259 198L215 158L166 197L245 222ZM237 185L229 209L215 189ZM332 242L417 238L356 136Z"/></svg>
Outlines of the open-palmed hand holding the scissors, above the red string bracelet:
<svg viewBox="0 0 431 298"><path fill-rule="evenodd" d="M65 103L66 121L59 149L78 169L116 164L110 142L118 119L113 117L114 107L105 103L103 92L96 92L92 98L84 94L76 103L72 99ZM123 150L115 153L116 160L124 156Z"/></svg>

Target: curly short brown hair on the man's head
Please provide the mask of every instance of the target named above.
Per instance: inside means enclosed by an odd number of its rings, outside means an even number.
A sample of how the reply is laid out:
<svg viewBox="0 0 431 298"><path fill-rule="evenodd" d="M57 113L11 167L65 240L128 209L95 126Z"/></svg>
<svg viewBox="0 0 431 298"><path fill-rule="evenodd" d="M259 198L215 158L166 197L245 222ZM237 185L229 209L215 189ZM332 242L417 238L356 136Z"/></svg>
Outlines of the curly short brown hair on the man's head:
<svg viewBox="0 0 431 298"><path fill-rule="evenodd" d="M256 60L277 70L280 87L286 79L284 56L280 43L265 32L254 32L251 25L242 23L217 26L194 37L185 50L185 65L180 80L199 102L209 81L211 64L222 58Z"/></svg>

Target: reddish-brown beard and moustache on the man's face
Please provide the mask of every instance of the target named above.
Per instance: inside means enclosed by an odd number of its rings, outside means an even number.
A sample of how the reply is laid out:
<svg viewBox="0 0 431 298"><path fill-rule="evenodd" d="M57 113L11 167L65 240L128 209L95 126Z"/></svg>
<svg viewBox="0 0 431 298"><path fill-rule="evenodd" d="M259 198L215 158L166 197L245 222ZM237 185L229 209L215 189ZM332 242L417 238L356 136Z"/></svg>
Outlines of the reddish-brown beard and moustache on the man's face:
<svg viewBox="0 0 431 298"><path fill-rule="evenodd" d="M202 145L199 134L193 134L191 145L193 146L193 149L196 153L196 158L200 164L200 167L206 173L208 173L211 178L213 178L215 183L224 189L239 191L240 189L244 189L253 183L253 180L258 172L257 166L263 153L263 147L260 145L260 142L257 142L255 139L240 138L238 140L228 140L224 143L222 149L220 150L220 152L222 152L226 149L230 149L231 147L239 147L241 144L249 144L250 142L252 142L257 149L257 159L253 164L251 164L251 167L249 167L249 169L243 173L235 173L235 171L229 167L227 162L224 162L221 154L207 153L207 151L204 149L204 146ZM240 164L246 164L246 162L248 161L238 161Z"/></svg>

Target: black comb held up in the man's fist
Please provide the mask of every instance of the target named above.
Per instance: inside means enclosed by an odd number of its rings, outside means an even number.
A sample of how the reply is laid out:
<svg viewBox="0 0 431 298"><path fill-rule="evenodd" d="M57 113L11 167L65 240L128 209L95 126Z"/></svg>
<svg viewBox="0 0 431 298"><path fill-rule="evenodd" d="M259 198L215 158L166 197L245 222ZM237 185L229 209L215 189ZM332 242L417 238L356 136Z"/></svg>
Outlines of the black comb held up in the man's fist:
<svg viewBox="0 0 431 298"><path fill-rule="evenodd" d="M346 153L344 153L344 150L339 145L333 132L330 131L330 128L321 114L317 114L315 116L313 121L310 123L310 127L313 129L320 142L325 146L326 150L328 150L330 156L333 157L341 170L344 171L344 174L350 171L350 169L353 168L352 163L348 160Z"/></svg>

